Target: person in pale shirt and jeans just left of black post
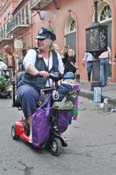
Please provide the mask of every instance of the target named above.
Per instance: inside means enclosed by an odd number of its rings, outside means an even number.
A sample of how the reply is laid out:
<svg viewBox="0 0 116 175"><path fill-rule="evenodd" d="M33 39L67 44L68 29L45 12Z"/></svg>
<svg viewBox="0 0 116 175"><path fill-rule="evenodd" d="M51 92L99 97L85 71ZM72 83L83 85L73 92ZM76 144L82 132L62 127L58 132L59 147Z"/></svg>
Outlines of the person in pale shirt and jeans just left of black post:
<svg viewBox="0 0 116 175"><path fill-rule="evenodd" d="M89 52L85 52L83 58L83 66L85 66L86 63L88 82L91 82L92 69L93 69L92 62L93 62L93 55Z"/></svg>

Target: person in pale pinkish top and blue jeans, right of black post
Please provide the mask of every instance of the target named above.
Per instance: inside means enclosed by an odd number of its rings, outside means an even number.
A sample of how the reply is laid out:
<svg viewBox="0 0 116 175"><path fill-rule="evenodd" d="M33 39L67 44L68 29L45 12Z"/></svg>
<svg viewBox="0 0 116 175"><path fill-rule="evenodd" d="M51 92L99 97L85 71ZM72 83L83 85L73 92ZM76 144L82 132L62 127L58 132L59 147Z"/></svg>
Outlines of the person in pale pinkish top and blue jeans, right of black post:
<svg viewBox="0 0 116 175"><path fill-rule="evenodd" d="M108 47L106 51L99 55L100 59L100 82L102 87L107 85L108 79L108 64L111 58L111 49Z"/></svg>

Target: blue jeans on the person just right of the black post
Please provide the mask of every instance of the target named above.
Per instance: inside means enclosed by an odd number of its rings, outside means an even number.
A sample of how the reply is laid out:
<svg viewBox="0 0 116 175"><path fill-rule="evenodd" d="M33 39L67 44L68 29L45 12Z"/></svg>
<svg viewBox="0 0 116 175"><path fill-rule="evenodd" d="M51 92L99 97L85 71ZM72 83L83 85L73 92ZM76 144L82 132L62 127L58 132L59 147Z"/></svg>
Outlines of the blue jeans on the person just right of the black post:
<svg viewBox="0 0 116 175"><path fill-rule="evenodd" d="M108 58L101 58L100 59L100 82L102 86L107 85L108 79Z"/></svg>

